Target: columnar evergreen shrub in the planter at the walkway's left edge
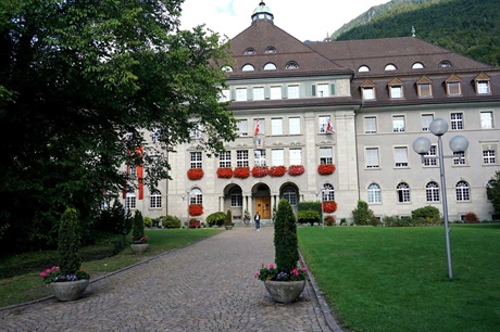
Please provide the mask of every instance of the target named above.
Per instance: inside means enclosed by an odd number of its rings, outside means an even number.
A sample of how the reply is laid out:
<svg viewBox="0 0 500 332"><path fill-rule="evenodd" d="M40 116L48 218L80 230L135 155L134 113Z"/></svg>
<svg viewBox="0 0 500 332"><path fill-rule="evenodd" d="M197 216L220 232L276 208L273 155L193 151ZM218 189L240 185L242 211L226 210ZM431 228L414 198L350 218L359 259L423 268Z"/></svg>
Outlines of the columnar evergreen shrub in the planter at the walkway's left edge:
<svg viewBox="0 0 500 332"><path fill-rule="evenodd" d="M80 256L80 225L78 213L68 207L61 217L59 226L59 267L62 274L74 274L82 265Z"/></svg>

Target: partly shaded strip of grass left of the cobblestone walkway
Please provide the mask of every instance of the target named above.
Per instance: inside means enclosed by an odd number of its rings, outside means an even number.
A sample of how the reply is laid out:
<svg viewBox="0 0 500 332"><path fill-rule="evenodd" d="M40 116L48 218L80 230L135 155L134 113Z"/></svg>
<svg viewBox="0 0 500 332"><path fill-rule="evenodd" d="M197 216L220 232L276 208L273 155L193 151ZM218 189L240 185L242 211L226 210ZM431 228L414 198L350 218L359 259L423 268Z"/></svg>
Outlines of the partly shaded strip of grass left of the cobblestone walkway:
<svg viewBox="0 0 500 332"><path fill-rule="evenodd" d="M220 231L220 229L146 230L146 234L149 235L150 241L149 248L143 254L134 255L130 248L126 247L113 257L84 261L82 268L86 269L91 278L98 278L130 266L150 256L213 235ZM28 257L28 255L34 255L34 257ZM23 254L20 255L20 259L30 258L30 260L36 260L37 255L45 255L45 253ZM11 257L10 260L15 261L16 257ZM9 266L15 269L12 263L10 263ZM50 290L43 284L39 276L41 270L42 269L38 269L22 276L0 279L0 307L49 296L51 294Z"/></svg>

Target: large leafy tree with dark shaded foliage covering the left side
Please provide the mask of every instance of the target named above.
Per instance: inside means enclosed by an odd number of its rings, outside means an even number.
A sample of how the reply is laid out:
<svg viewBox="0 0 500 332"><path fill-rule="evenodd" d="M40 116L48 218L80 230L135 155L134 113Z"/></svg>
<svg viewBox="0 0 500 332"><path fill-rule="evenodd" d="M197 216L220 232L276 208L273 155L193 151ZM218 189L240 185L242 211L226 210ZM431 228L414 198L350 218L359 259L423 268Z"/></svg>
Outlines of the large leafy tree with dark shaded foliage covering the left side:
<svg viewBox="0 0 500 332"><path fill-rule="evenodd" d="M209 153L236 138L218 103L228 43L202 26L179 30L183 2L0 2L2 244L55 245L66 205L88 235L103 192L130 180L124 163L145 165L153 188L192 129ZM140 151L153 129L159 143Z"/></svg>

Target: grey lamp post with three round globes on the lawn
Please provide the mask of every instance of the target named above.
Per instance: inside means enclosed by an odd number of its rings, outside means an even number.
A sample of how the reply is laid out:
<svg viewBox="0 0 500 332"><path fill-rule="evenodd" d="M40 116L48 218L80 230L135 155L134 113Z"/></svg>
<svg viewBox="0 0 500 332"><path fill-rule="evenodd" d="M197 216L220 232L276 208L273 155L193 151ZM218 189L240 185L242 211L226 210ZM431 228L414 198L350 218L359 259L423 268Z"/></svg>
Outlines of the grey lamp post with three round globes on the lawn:
<svg viewBox="0 0 500 332"><path fill-rule="evenodd" d="M442 195L442 217L445 219L446 250L448 258L448 278L453 278L451 266L451 247L450 247L450 226L448 222L448 200L446 195L446 177L445 177L445 158L454 157L445 156L442 153L441 137L448 131L448 123L442 118L434 119L429 125L429 130L438 138L438 157L439 157L439 175L441 179L441 195ZM425 137L420 137L413 142L413 150L422 156L422 159L428 158L425 156L430 150L430 141ZM468 141L463 136L455 136L450 140L450 149L455 152L465 152L468 148Z"/></svg>

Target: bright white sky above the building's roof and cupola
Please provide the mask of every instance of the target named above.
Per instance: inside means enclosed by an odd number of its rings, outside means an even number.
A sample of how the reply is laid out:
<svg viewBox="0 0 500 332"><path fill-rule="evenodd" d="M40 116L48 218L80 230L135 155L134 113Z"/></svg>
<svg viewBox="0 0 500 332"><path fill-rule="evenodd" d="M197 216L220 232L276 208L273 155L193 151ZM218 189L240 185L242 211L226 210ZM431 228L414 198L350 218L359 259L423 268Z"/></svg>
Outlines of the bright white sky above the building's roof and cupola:
<svg viewBox="0 0 500 332"><path fill-rule="evenodd" d="M323 40L327 34L389 0L265 0L274 24L299 40ZM250 26L260 0L186 0L182 28L205 24L210 29L235 37Z"/></svg>

